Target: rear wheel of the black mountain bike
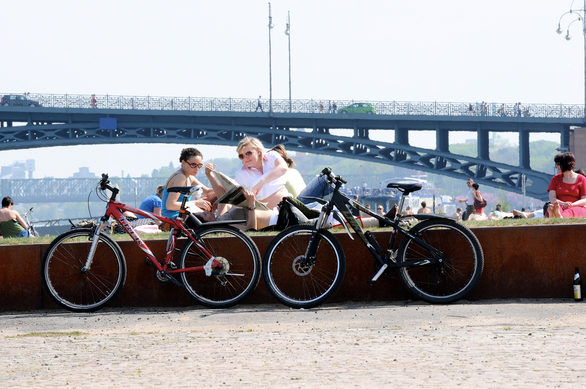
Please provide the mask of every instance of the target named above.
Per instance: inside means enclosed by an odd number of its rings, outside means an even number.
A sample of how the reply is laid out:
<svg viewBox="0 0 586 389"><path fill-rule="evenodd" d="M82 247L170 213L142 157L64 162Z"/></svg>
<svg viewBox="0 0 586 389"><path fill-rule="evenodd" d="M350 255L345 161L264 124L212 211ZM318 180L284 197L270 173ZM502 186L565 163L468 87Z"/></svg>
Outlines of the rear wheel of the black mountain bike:
<svg viewBox="0 0 586 389"><path fill-rule="evenodd" d="M401 267L399 275L416 297L433 304L447 304L466 296L480 280L484 254L478 238L470 229L449 219L426 220L411 231L445 256L441 263ZM429 250L414 239L404 237L398 261L433 258Z"/></svg>

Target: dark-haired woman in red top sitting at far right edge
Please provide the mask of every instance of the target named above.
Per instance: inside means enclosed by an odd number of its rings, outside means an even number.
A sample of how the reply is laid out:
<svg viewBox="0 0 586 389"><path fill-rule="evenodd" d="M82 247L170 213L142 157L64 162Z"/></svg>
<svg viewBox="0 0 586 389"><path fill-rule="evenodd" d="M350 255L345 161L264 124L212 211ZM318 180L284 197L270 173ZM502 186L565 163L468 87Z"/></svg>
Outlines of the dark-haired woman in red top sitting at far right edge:
<svg viewBox="0 0 586 389"><path fill-rule="evenodd" d="M586 217L586 177L574 171L574 155L558 154L554 162L559 174L553 176L547 188L550 201L547 216Z"/></svg>

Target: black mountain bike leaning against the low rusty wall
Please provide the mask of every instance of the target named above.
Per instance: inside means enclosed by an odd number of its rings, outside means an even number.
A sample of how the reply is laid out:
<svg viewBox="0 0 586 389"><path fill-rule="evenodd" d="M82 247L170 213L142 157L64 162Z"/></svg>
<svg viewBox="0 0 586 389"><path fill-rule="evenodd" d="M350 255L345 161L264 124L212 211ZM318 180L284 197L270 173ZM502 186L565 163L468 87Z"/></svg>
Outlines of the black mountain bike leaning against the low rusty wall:
<svg viewBox="0 0 586 389"><path fill-rule="evenodd" d="M344 251L327 230L334 207L356 232L375 259L376 282L391 269L398 270L409 291L430 303L450 303L464 297L478 283L484 266L482 247L468 228L455 220L432 214L403 216L405 197L421 189L420 184L388 184L402 193L398 212L392 218L380 216L340 192L346 181L330 168L321 172L333 187L329 201L312 198L323 207L315 225L296 225L277 235L263 258L263 278L270 292L293 308L311 308L324 302L342 283L346 269ZM370 231L363 231L348 206L392 227L388 247L383 250ZM405 218L418 223L404 228ZM352 237L346 223L342 225ZM397 239L400 236L400 239ZM397 248L395 248L397 247Z"/></svg>

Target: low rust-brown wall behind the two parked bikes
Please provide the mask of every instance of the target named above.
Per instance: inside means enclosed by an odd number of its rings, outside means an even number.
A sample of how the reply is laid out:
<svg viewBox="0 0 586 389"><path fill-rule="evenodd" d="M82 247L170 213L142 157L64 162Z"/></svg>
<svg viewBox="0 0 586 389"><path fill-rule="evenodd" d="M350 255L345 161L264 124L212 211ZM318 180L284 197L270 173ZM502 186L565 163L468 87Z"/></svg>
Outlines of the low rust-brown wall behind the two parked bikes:
<svg viewBox="0 0 586 389"><path fill-rule="evenodd" d="M586 275L586 224L473 229L482 244L485 268L480 283L468 299L572 298L574 267ZM388 240L387 232L376 234ZM346 277L330 302L393 301L410 295L397 277L382 277L368 285L373 260L364 246L337 233L347 258ZM261 255L271 236L254 237ZM153 270L134 242L119 242L128 264L126 284L110 306L191 306L195 302L182 288L155 281ZM162 255L165 241L148 241L155 255ZM41 287L41 258L47 244L0 246L0 311L57 308ZM246 303L277 303L261 279Z"/></svg>

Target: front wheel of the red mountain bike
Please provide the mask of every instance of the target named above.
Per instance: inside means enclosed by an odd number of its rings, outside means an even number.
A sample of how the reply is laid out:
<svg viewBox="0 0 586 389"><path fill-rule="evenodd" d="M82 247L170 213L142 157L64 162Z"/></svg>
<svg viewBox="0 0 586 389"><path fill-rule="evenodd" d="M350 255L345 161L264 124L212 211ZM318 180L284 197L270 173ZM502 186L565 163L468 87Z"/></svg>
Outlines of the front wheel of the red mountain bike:
<svg viewBox="0 0 586 389"><path fill-rule="evenodd" d="M126 281L126 260L120 246L99 235L91 269L82 272L94 230L78 228L55 238L43 255L42 280L49 295L73 312L93 312L111 301Z"/></svg>

